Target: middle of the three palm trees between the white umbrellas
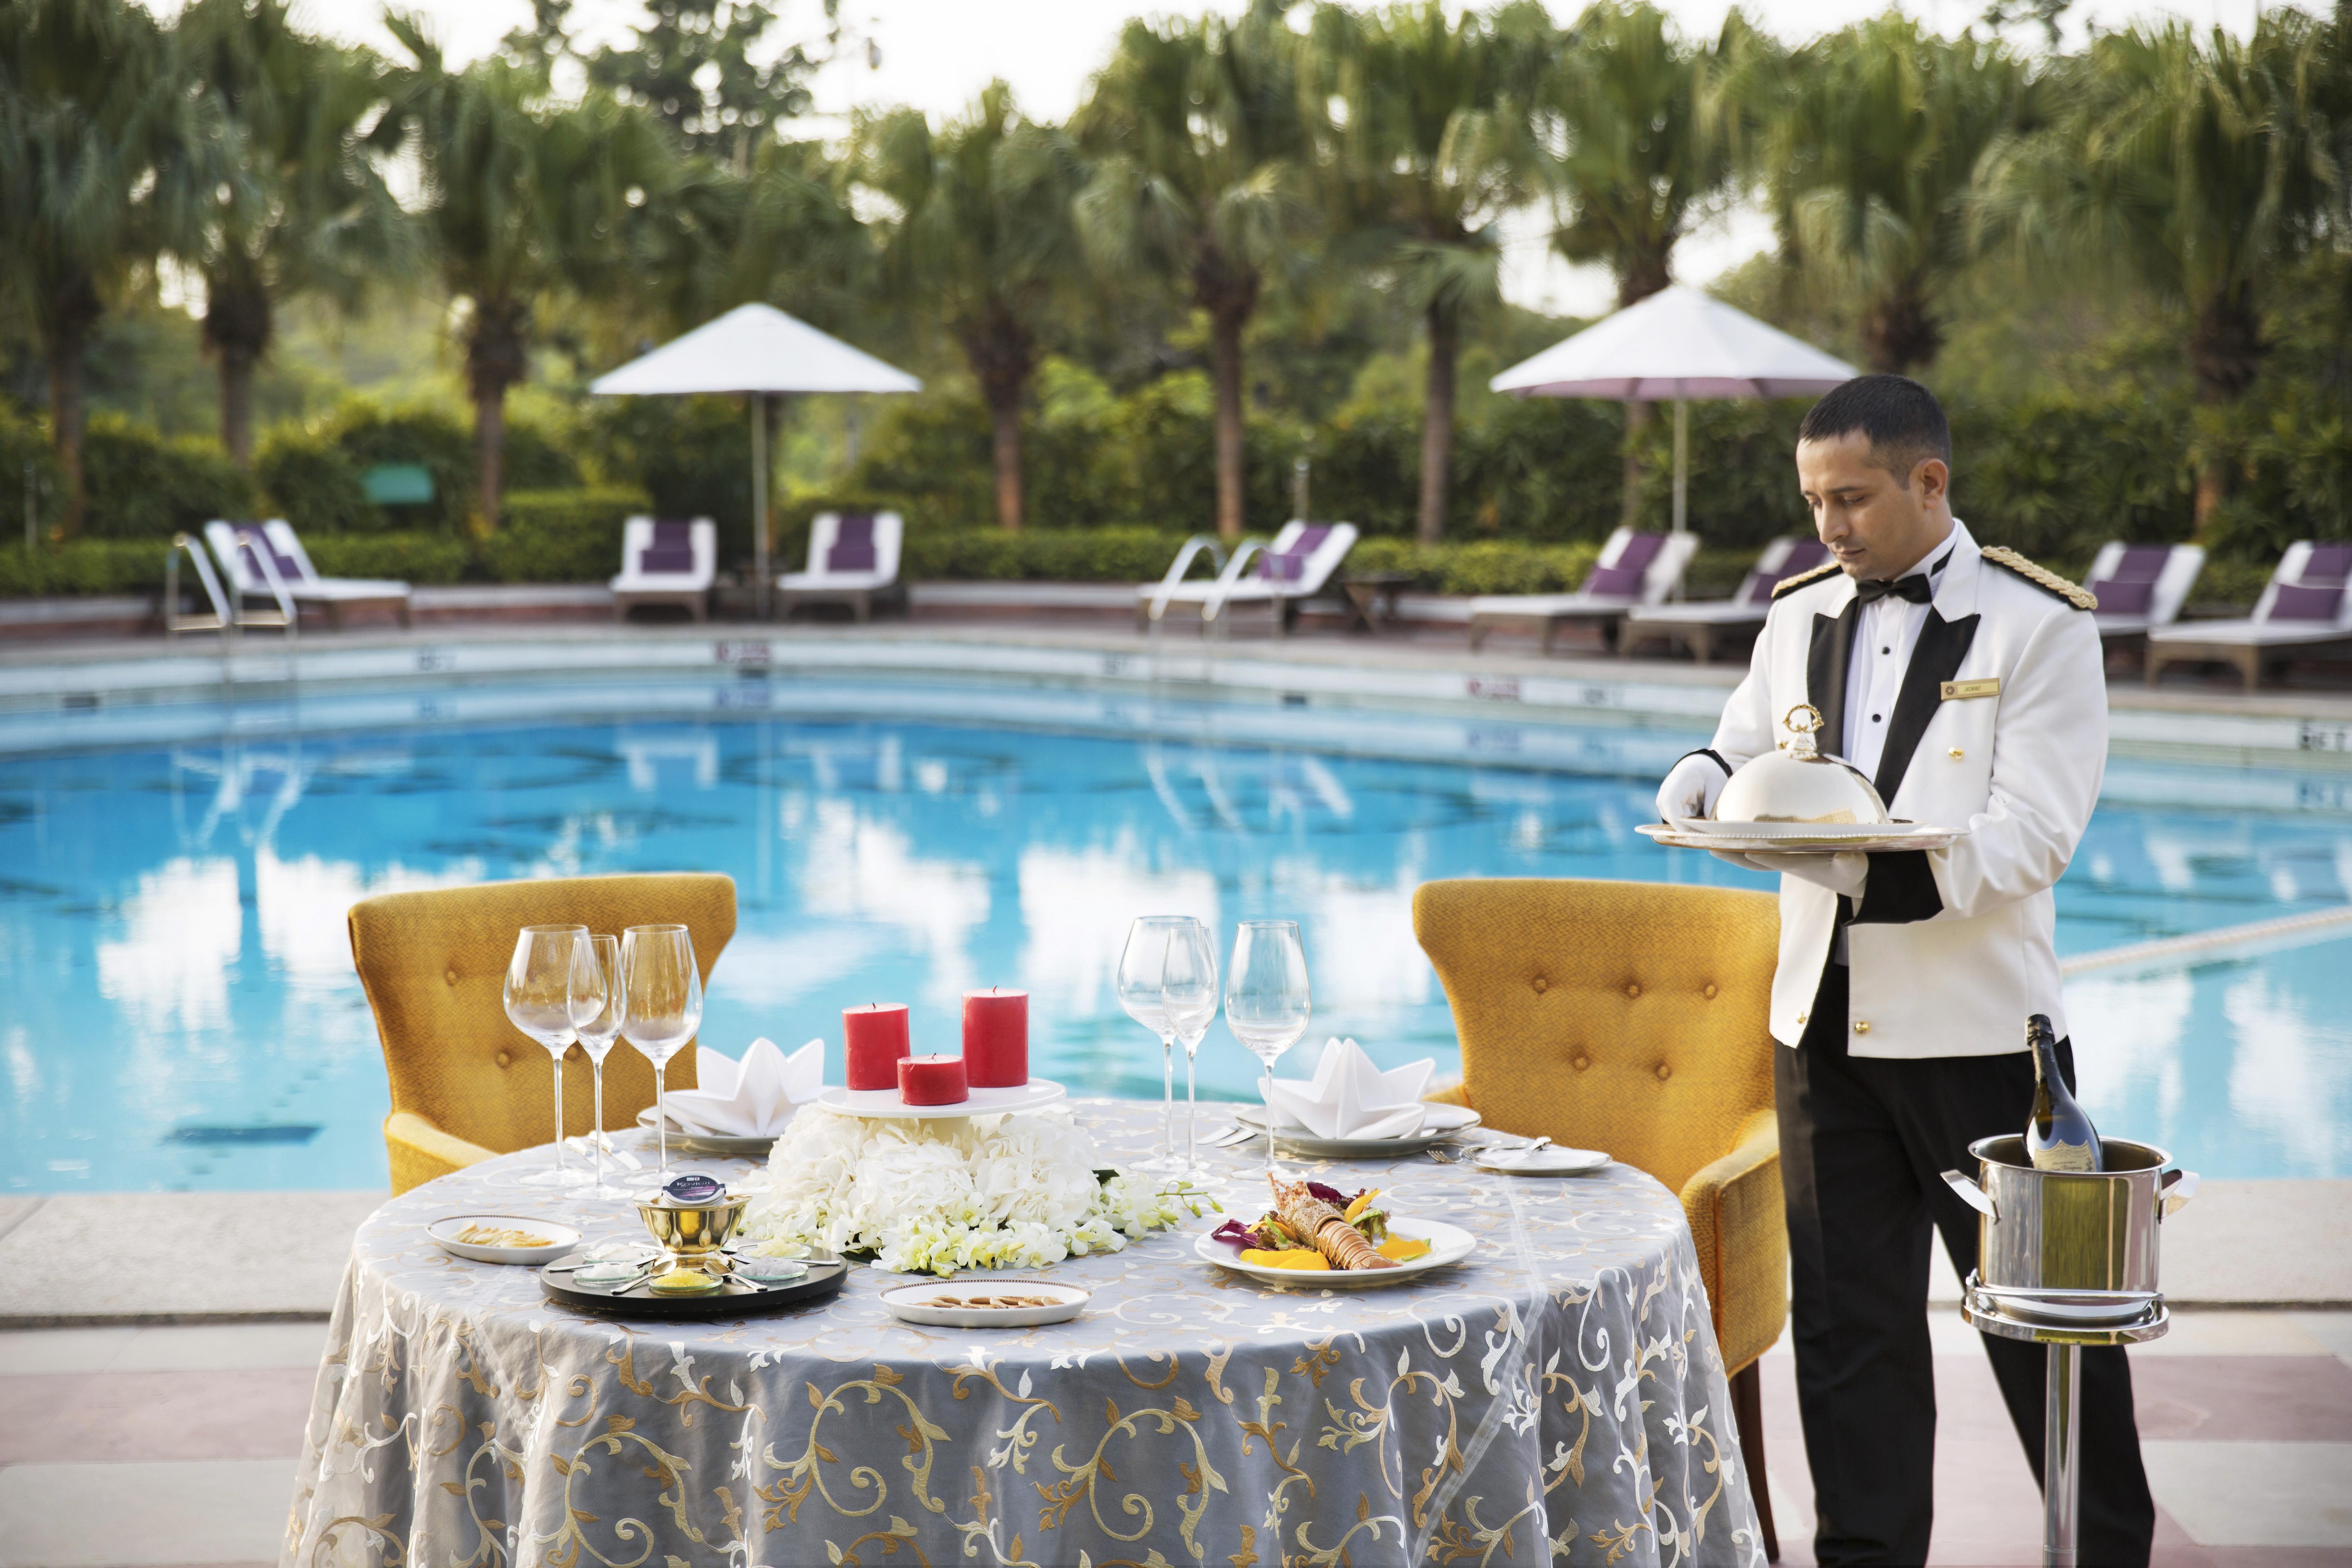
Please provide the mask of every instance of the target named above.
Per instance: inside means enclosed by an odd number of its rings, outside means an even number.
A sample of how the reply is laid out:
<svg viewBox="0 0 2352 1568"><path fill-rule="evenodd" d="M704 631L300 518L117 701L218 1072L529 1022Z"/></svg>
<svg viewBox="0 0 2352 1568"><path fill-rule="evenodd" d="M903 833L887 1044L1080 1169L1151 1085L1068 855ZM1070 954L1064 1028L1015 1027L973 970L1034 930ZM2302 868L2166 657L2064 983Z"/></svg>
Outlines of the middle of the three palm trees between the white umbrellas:
<svg viewBox="0 0 2352 1568"><path fill-rule="evenodd" d="M1242 536L1242 334L1301 235L1298 42L1282 5L1237 21L1129 21L1073 118L1094 174L1080 223L1105 273L1143 270L1209 322L1216 531Z"/></svg>

